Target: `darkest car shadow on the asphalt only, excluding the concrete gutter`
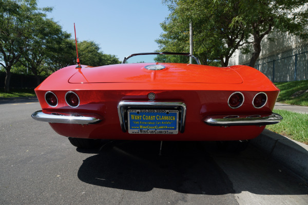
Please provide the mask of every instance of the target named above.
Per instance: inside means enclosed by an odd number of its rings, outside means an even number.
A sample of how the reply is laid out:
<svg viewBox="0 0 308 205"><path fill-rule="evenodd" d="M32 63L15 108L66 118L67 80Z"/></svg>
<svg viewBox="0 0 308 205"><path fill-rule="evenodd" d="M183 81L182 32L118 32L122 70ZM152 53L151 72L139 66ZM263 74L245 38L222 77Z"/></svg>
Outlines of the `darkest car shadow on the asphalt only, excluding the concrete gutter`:
<svg viewBox="0 0 308 205"><path fill-rule="evenodd" d="M234 193L225 173L198 142L120 141L84 160L80 180L92 185L146 192Z"/></svg>

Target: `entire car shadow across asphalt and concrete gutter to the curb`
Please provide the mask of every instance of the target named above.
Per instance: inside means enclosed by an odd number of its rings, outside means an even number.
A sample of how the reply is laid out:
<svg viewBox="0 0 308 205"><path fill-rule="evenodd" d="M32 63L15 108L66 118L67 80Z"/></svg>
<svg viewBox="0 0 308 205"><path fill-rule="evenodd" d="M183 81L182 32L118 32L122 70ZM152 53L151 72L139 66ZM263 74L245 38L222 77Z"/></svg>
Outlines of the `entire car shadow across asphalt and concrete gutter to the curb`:
<svg viewBox="0 0 308 205"><path fill-rule="evenodd" d="M92 185L139 192L159 188L206 195L308 194L292 174L278 176L275 162L252 146L229 153L217 150L215 142L164 141L161 156L159 150L159 141L118 141L85 159L78 177ZM278 181L290 189L281 189Z"/></svg>

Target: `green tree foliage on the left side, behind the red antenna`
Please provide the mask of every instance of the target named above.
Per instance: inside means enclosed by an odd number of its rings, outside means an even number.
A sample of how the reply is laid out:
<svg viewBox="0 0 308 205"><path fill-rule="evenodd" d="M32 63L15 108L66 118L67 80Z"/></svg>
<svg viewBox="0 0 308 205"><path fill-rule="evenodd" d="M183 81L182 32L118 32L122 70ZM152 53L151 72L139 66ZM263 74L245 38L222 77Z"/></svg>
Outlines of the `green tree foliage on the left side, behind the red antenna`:
<svg viewBox="0 0 308 205"><path fill-rule="evenodd" d="M37 8L36 0L0 0L0 66L6 72L5 90L9 92L12 72L36 76L49 75L75 64L74 40L62 27L46 17L52 8ZM118 64L114 55L104 54L94 42L80 45L84 64ZM18 64L18 65L17 65Z"/></svg>

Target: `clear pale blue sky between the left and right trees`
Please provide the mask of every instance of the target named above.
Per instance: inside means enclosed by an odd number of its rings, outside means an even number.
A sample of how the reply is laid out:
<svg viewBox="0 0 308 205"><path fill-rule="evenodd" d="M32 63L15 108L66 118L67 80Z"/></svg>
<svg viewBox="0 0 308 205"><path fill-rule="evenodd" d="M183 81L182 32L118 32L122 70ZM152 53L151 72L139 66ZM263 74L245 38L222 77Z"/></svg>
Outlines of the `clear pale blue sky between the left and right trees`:
<svg viewBox="0 0 308 205"><path fill-rule="evenodd" d="M72 37L75 23L79 41L93 40L104 53L120 60L158 49L154 40L163 33L160 23L169 14L161 0L37 0L37 4L53 7L48 17Z"/></svg>

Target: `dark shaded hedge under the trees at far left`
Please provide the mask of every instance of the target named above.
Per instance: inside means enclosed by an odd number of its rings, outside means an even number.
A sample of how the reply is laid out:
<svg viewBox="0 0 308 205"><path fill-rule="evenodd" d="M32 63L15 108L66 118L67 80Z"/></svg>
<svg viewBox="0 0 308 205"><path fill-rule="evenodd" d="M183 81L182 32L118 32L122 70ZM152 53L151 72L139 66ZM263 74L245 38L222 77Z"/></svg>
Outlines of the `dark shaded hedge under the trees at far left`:
<svg viewBox="0 0 308 205"><path fill-rule="evenodd" d="M0 72L0 88L4 88L6 73ZM41 82L46 79L46 77L41 77ZM36 88L36 78L34 75L22 75L12 73L10 79L10 88Z"/></svg>

